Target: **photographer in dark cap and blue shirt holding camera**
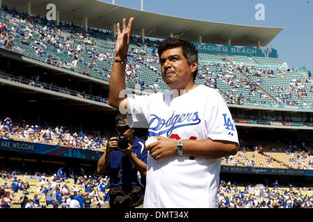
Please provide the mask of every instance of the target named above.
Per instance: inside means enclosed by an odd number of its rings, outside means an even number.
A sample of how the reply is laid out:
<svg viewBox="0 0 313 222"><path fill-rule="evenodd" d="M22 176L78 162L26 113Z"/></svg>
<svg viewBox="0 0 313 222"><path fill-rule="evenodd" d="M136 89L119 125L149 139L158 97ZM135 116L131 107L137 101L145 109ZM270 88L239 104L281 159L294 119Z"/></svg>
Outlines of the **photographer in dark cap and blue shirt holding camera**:
<svg viewBox="0 0 313 222"><path fill-rule="evenodd" d="M143 203L147 151L145 140L134 135L129 128L126 114L115 117L117 137L111 137L106 151L98 160L97 172L108 173L111 178L111 208L137 207ZM138 179L141 173L141 181Z"/></svg>

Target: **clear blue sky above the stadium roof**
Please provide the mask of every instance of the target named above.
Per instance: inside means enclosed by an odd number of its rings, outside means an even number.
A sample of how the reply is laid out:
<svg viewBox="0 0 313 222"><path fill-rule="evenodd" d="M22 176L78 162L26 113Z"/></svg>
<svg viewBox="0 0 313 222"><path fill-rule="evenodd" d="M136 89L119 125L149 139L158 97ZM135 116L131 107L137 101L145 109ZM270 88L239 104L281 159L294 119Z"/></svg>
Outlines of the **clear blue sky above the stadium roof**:
<svg viewBox="0 0 313 222"><path fill-rule="evenodd" d="M141 10L141 0L114 3ZM264 5L264 20L255 19L258 3ZM269 44L290 68L313 71L313 0L143 0L143 10L210 22L284 28Z"/></svg>

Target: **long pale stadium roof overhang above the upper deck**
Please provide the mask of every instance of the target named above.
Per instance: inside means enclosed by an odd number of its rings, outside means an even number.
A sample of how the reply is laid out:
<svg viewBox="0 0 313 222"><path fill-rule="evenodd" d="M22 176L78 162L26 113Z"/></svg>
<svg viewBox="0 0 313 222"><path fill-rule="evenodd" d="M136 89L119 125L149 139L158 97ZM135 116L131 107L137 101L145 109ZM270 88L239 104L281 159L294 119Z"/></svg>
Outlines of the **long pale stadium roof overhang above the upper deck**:
<svg viewBox="0 0 313 222"><path fill-rule="evenodd" d="M214 44L228 44L236 46L266 46L282 31L282 28L245 26L220 22L207 22L182 17L160 15L152 12L135 10L97 0L3 0L3 4L45 16L48 12L47 4L54 3L59 11L59 19L66 22L83 24L88 18L88 26L112 30L113 24L122 22L125 17L134 17L133 33L145 36L166 38L172 35L184 37L187 40ZM259 42L259 43L258 43Z"/></svg>

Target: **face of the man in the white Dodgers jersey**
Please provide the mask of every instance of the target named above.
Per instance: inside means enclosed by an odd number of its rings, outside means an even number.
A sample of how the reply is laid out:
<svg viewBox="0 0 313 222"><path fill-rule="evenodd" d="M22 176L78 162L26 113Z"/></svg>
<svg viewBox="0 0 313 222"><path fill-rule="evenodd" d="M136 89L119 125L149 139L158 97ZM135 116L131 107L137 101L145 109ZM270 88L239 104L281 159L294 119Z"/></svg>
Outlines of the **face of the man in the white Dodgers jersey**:
<svg viewBox="0 0 313 222"><path fill-rule="evenodd" d="M163 51L160 65L163 81L171 89L185 89L193 83L193 71L198 67L197 62L188 65L182 47Z"/></svg>

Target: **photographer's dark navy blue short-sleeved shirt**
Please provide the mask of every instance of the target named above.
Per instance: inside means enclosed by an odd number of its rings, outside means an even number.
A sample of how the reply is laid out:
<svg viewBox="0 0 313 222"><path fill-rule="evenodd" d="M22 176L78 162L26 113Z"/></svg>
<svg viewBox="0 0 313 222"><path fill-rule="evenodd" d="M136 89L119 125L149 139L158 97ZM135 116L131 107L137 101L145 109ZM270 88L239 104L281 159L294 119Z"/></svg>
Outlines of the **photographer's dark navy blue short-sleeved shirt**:
<svg viewBox="0 0 313 222"><path fill-rule="evenodd" d="M134 137L131 144L132 152L143 162L147 163L147 151L145 151L145 140ZM109 163L109 176L111 178L111 187L123 187L131 189L131 186L145 186L145 177L141 176L141 181L138 181L138 170L129 160L129 157L121 151L113 150L111 152Z"/></svg>

